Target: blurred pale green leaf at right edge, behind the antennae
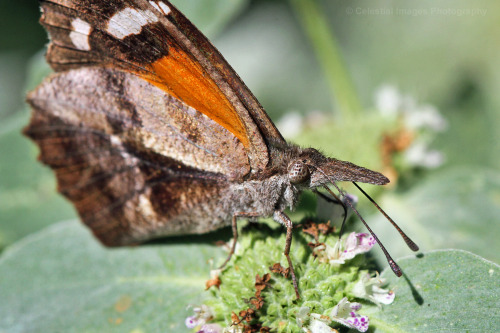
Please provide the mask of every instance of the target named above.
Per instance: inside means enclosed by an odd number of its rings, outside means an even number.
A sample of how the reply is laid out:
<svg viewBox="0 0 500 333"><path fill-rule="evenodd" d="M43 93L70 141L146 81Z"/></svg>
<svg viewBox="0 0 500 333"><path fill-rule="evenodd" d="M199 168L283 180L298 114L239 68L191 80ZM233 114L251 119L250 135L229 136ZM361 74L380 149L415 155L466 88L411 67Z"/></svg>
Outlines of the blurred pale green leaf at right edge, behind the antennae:
<svg viewBox="0 0 500 333"><path fill-rule="evenodd" d="M500 262L497 170L443 169L406 193L384 196L379 204L423 251L460 248ZM394 256L410 251L381 214L368 223Z"/></svg>

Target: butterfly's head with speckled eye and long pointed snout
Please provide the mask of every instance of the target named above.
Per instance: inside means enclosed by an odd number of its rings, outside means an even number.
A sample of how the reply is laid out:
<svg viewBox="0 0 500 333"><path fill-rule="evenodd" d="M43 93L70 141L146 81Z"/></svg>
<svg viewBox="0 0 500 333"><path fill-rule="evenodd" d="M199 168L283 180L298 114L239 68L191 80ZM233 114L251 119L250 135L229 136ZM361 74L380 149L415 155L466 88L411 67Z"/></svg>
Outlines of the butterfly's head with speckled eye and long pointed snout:
<svg viewBox="0 0 500 333"><path fill-rule="evenodd" d="M328 158L314 148L308 148L291 159L288 179L300 187L315 188L332 182L350 181L375 185L389 182L384 175L350 162Z"/></svg>

